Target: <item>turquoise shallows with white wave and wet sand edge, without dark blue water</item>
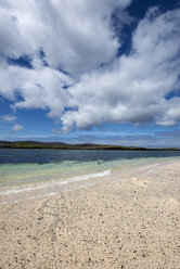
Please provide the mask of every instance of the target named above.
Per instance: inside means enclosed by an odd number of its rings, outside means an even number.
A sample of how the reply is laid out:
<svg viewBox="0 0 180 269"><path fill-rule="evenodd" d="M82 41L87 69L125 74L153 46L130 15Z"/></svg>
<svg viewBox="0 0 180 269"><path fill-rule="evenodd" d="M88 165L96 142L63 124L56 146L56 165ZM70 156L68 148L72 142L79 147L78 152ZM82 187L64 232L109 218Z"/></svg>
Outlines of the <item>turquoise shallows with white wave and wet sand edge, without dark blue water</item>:
<svg viewBox="0 0 180 269"><path fill-rule="evenodd" d="M57 195L88 185L119 181L139 169L151 169L178 159L180 161L179 156L40 165L5 164L0 166L0 204Z"/></svg>

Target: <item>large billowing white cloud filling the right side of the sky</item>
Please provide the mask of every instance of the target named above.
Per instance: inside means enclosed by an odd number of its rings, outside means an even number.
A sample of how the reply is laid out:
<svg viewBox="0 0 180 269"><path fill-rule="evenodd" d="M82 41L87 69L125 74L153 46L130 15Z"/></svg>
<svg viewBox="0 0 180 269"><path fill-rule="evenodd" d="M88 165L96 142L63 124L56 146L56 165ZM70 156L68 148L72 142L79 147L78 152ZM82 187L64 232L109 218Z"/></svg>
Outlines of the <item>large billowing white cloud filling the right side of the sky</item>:
<svg viewBox="0 0 180 269"><path fill-rule="evenodd" d="M128 56L83 74L69 89L78 110L63 115L64 131L74 123L87 129L105 121L171 126L180 120L179 98L166 98L180 86L180 10L156 12L151 10L138 25Z"/></svg>

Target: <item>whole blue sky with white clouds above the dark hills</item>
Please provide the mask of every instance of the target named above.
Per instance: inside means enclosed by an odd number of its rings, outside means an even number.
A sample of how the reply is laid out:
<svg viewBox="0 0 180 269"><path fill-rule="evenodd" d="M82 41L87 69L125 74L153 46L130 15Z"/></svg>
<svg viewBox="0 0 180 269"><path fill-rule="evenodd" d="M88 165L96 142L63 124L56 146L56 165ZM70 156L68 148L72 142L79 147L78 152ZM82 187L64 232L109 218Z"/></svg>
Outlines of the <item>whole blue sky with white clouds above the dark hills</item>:
<svg viewBox="0 0 180 269"><path fill-rule="evenodd" d="M180 1L0 0L0 140L179 138Z"/></svg>

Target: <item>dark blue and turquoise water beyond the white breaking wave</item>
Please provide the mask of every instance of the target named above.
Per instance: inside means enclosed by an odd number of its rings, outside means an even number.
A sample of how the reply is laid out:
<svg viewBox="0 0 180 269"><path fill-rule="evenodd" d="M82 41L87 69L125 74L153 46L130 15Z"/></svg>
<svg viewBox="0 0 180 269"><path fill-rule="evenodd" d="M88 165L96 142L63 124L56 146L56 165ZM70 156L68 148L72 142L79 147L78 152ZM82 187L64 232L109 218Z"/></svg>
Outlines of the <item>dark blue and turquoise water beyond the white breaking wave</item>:
<svg viewBox="0 0 180 269"><path fill-rule="evenodd" d="M68 182L73 177L137 167L180 157L176 151L86 151L0 149L0 188ZM108 174L108 172L107 172Z"/></svg>

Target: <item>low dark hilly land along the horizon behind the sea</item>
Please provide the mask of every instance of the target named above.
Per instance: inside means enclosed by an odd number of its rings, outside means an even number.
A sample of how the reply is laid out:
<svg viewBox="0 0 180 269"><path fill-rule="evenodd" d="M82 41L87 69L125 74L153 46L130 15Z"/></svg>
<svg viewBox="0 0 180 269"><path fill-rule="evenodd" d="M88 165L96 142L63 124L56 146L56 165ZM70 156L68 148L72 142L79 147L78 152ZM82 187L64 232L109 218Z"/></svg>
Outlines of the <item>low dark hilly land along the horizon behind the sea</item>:
<svg viewBox="0 0 180 269"><path fill-rule="evenodd" d="M177 148L146 149L141 146L106 145L94 143L67 144L63 142L0 141L1 149L54 149L54 150L119 150L119 151L180 151Z"/></svg>

